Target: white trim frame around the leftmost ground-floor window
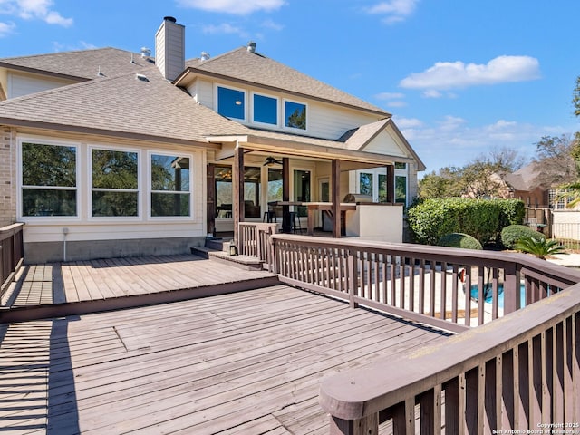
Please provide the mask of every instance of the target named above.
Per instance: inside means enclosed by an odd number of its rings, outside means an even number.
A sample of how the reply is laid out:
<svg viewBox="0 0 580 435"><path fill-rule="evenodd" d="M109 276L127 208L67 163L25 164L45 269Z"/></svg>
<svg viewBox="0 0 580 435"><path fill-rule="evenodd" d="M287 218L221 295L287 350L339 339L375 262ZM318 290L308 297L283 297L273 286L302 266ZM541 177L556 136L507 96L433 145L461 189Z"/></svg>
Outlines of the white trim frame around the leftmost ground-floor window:
<svg viewBox="0 0 580 435"><path fill-rule="evenodd" d="M73 147L75 149L76 155L76 167L74 169L74 177L76 179L76 186L74 190L76 191L76 215L75 216L24 216L24 196L23 189L25 188L35 188L35 189L54 189L54 190L72 190L73 188L64 187L50 187L50 186L24 186L23 179L23 166L24 161L22 158L23 142L35 143L37 145L53 145L61 147ZM81 166L82 166L82 147L81 142L75 140L54 140L46 139L42 136L33 135L18 135L16 137L16 218L23 222L38 222L38 223L54 223L55 220L58 222L80 222L82 220L82 179L81 179Z"/></svg>

